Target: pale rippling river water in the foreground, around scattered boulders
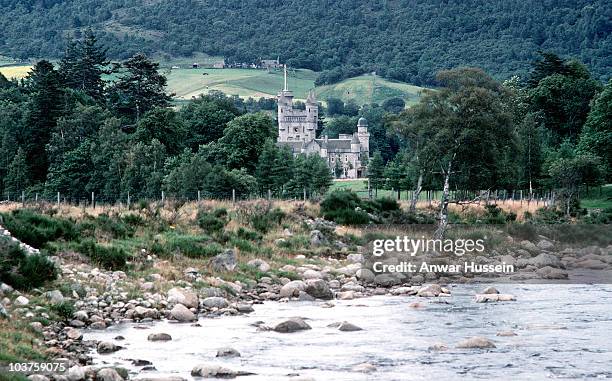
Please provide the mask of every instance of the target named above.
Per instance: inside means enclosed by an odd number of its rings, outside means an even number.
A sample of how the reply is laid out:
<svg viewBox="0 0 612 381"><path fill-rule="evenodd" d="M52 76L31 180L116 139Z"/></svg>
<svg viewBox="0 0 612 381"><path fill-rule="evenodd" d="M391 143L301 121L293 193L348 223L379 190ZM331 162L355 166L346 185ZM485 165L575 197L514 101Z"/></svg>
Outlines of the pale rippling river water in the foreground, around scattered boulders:
<svg viewBox="0 0 612 381"><path fill-rule="evenodd" d="M612 378L612 285L500 285L516 302L477 304L483 285L452 288L439 301L408 296L376 296L321 302L266 302L245 316L201 318L201 327L167 321L121 324L88 331L85 339L115 341L126 349L93 354L96 365L128 368L132 378L180 376L191 379L197 364L220 364L256 375L243 380L288 380L300 374L316 380L545 380ZM408 304L418 300L424 308ZM296 333L257 331L251 324L273 325L289 317L307 318L312 330ZM331 323L349 321L363 331L340 332ZM499 337L512 330L517 336ZM169 342L149 342L154 332ZM494 341L490 350L456 349L470 336ZM446 351L430 351L445 343ZM230 346L242 356L215 358ZM151 361L154 371L139 371L129 359ZM364 374L355 365L377 370ZM138 375L136 375L138 373Z"/></svg>

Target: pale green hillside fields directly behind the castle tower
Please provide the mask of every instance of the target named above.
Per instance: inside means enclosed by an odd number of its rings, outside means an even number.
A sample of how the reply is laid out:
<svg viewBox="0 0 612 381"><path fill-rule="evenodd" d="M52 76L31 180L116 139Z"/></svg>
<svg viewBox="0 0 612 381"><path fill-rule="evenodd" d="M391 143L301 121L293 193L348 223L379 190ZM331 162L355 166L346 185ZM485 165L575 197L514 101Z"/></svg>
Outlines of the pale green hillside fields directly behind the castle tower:
<svg viewBox="0 0 612 381"><path fill-rule="evenodd" d="M244 98L275 97L283 85L281 71L181 68L170 70L166 75L168 88L178 99L191 99L211 90ZM289 89L297 99L305 99L308 91L314 89L320 100L328 97L344 101L353 99L360 105L382 103L391 97L401 97L407 104L414 104L423 90L418 86L388 81L375 75L362 75L337 84L315 87L316 77L317 73L310 70L291 70L288 78Z"/></svg>

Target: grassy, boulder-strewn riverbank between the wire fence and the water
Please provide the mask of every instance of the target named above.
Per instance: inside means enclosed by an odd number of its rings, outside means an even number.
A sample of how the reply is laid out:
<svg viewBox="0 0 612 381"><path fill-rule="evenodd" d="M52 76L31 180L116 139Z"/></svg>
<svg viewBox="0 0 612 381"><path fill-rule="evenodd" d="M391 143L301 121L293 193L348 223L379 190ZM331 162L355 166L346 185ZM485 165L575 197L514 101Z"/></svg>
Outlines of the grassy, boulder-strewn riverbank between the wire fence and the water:
<svg viewBox="0 0 612 381"><path fill-rule="evenodd" d="M278 217L281 213L282 217ZM196 329L193 325L201 325L203 319L257 316L260 308L270 308L269 303L280 302L273 305L282 309L298 301L325 307L320 311L328 311L327 308L344 303L359 305L376 295L403 298L405 307L412 310L431 303L448 303L454 299L456 284L494 280L464 273L447 276L428 272L412 277L373 274L364 267L367 263L364 256L369 256L368 241L396 235L398 227L378 226L370 230L338 226L319 218L317 206L313 204L251 203L233 207L206 203L149 207L116 216L112 210L95 217L78 210L60 210L53 215L70 216L76 222L87 221L94 226L93 237L97 242L129 248L131 255L123 270L103 269L76 251L74 247L78 246L60 239L51 245L56 248L52 259L60 269L56 281L27 292L2 286L0 300L6 316L12 322L19 322L11 328L14 334L3 336L3 340L8 343L18 336L25 337L19 348L3 346L6 349L3 348L2 361L5 364L61 361L67 366L66 372L53 376L32 376L36 372L24 372L37 381L66 378L116 381L117 377L146 377L147 370L143 369L150 364L142 365L137 371L132 368L131 374L121 369L100 374L100 369L118 365L96 362L96 359L113 353L123 357L125 351L120 347L131 343L114 340L114 336L110 341L95 338L108 338L104 332L114 332L114 327L126 324L151 327L153 322L161 321L156 324L170 323L167 327L181 330L178 327ZM257 221L261 219L266 223L258 230ZM217 220L221 221L220 228ZM121 235L112 233L118 230L121 221L138 221L128 238L118 238ZM215 224L215 230L210 230ZM261 231L264 229L267 231ZM485 229L486 234L498 230ZM514 239L505 232L497 234L498 244L476 258L486 264L513 262L518 278L505 280L566 281L571 280L572 272L577 269L605 272L612 267L609 245L571 247L541 235L535 235L532 241ZM202 236L208 238L198 240ZM216 252L205 251L215 245ZM36 250L30 246L26 249ZM501 291L502 294L492 293L480 299L472 294L470 306L494 301L511 304L517 299L516 295L505 294L503 288ZM291 316L279 313L276 319L251 328L284 335L310 326L309 320L292 321ZM151 333L173 336L170 331ZM154 338L151 343L157 341L164 340Z"/></svg>

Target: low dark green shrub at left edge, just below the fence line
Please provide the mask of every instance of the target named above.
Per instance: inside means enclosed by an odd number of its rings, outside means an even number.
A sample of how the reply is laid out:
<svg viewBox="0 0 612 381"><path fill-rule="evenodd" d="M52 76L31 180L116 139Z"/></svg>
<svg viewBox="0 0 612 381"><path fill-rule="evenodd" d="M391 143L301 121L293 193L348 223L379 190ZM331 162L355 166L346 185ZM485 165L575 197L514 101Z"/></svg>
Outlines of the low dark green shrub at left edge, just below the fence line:
<svg viewBox="0 0 612 381"><path fill-rule="evenodd" d="M4 227L13 236L36 248L58 239L73 241L79 238L79 231L74 222L38 214L28 209L3 214L2 219Z"/></svg>

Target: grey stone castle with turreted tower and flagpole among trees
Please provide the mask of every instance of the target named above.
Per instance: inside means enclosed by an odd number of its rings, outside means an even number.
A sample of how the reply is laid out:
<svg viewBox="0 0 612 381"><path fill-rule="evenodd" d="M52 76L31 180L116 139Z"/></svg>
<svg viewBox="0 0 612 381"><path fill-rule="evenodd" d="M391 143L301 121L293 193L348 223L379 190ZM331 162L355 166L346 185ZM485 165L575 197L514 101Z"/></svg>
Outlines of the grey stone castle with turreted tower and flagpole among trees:
<svg viewBox="0 0 612 381"><path fill-rule="evenodd" d="M294 155L317 154L327 162L334 177L356 179L366 176L366 163L370 156L368 122L360 118L357 131L340 134L338 139L327 135L316 137L319 105L311 91L304 110L293 107L293 93L285 86L278 93L278 145L288 146Z"/></svg>

